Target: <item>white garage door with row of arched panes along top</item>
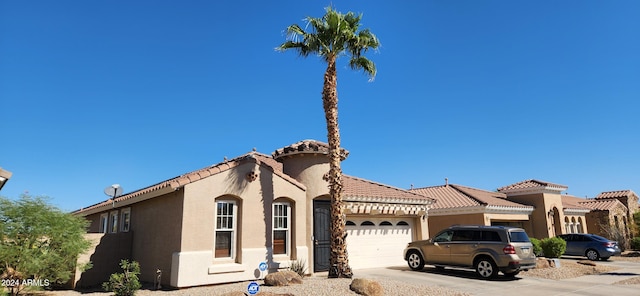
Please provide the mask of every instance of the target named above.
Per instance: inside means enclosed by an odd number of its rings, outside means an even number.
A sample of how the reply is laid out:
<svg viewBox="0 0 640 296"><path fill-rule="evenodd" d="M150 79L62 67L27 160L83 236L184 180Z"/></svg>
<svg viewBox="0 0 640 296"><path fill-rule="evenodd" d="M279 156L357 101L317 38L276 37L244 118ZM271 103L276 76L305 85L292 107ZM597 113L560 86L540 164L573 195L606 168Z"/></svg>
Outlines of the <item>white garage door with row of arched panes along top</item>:
<svg viewBox="0 0 640 296"><path fill-rule="evenodd" d="M405 265L402 251L412 240L412 223L402 218L347 218L351 268Z"/></svg>

